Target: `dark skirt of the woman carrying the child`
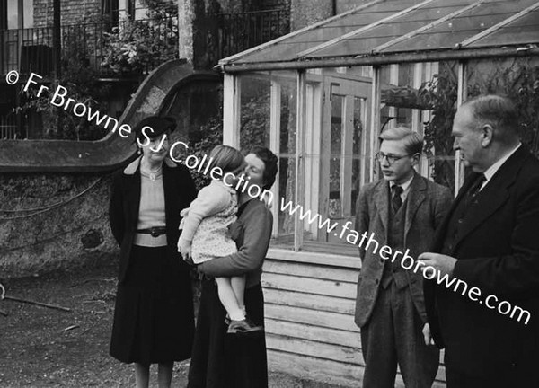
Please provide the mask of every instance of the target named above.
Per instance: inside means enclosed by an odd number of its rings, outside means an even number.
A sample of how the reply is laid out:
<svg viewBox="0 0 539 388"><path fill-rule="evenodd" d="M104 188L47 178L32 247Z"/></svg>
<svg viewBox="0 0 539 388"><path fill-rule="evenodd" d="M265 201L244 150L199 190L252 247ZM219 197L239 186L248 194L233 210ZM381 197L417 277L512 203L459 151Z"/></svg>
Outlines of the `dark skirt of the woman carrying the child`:
<svg viewBox="0 0 539 388"><path fill-rule="evenodd" d="M252 322L264 322L260 284L245 290ZM263 331L226 334L225 308L213 280L202 283L188 388L267 388L268 360Z"/></svg>

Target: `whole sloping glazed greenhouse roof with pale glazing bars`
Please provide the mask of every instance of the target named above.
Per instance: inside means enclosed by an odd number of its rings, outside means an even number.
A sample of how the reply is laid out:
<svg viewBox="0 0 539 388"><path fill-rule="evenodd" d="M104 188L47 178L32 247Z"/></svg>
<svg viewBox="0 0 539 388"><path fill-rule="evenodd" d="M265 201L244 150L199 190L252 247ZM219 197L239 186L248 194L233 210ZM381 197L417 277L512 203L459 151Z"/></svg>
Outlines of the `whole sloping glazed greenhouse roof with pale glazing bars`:
<svg viewBox="0 0 539 388"><path fill-rule="evenodd" d="M539 55L538 0L372 0L219 61L225 72Z"/></svg>

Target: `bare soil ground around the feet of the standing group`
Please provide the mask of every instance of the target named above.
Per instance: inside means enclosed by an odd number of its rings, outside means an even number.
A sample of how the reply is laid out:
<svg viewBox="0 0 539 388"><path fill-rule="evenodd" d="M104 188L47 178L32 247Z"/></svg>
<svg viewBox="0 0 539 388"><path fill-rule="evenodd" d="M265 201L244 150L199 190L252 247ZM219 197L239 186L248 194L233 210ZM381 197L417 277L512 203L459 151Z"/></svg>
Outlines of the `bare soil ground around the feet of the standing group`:
<svg viewBox="0 0 539 388"><path fill-rule="evenodd" d="M4 299L0 310L0 387L133 387L132 366L109 356L116 292L114 267L4 279L5 295L70 312ZM173 387L187 384L189 361L174 366ZM155 368L152 369L155 384ZM270 373L270 388L333 385Z"/></svg>

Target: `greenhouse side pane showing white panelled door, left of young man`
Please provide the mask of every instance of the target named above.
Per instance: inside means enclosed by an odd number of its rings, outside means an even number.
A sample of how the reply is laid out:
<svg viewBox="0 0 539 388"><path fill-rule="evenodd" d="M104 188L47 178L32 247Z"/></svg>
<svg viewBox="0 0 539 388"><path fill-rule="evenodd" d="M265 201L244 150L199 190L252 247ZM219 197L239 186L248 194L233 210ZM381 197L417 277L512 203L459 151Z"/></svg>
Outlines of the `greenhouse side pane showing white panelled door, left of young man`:
<svg viewBox="0 0 539 388"><path fill-rule="evenodd" d="M307 77L310 113L305 122L302 205L320 215L322 221L338 225L339 230L354 221L358 190L367 171L365 163L370 161L364 134L372 94L368 75L368 68L340 67L314 69ZM357 255L355 245L327 228L320 228L319 223L305 219L303 224L303 251L338 249L340 254Z"/></svg>

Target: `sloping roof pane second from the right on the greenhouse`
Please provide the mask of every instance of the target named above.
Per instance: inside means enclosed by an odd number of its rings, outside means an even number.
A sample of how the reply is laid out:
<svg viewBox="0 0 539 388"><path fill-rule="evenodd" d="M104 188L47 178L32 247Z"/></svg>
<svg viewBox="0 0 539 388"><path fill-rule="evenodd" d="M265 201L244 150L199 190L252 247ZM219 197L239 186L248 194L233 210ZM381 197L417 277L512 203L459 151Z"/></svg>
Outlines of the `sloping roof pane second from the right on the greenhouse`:
<svg viewBox="0 0 539 388"><path fill-rule="evenodd" d="M536 0L486 2L432 29L414 35L409 40L385 48L382 52L454 48L456 44L503 22L535 2Z"/></svg>

